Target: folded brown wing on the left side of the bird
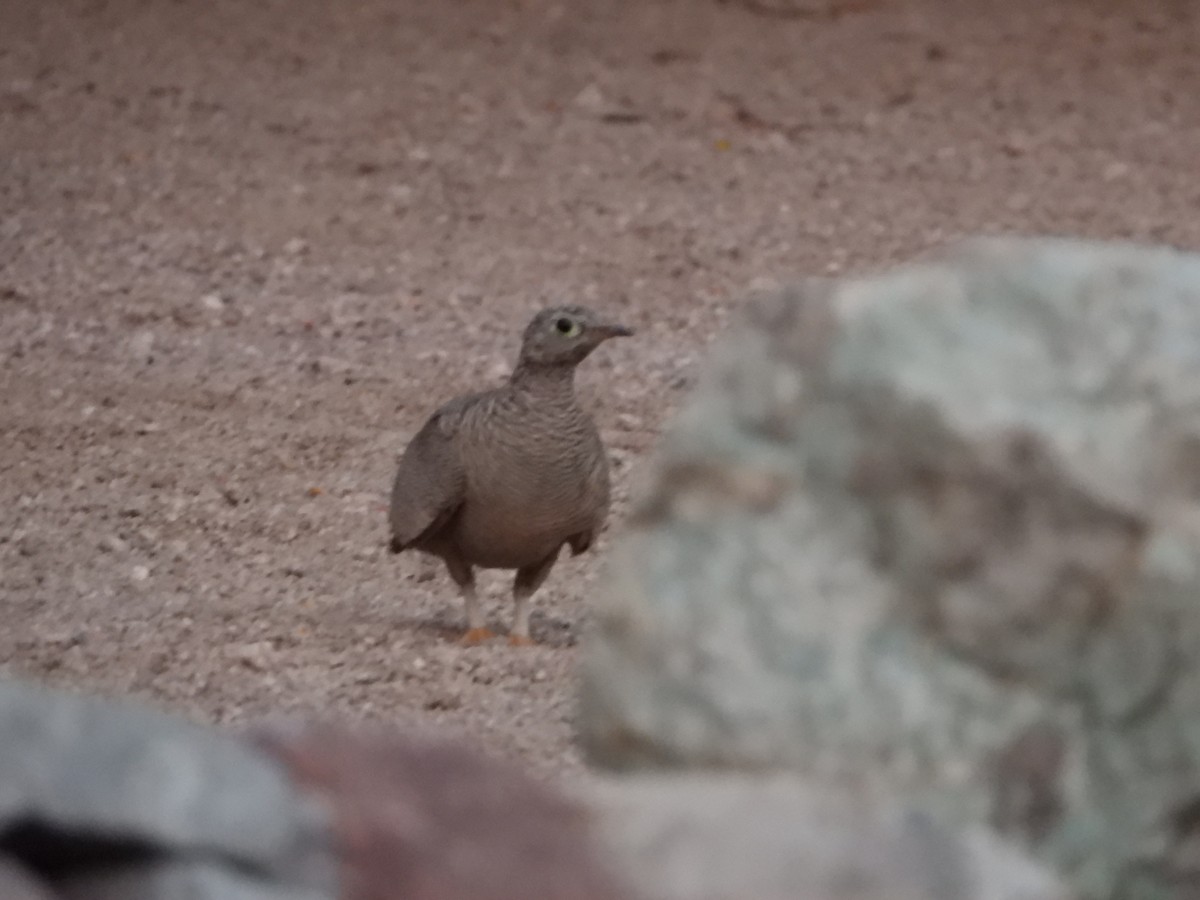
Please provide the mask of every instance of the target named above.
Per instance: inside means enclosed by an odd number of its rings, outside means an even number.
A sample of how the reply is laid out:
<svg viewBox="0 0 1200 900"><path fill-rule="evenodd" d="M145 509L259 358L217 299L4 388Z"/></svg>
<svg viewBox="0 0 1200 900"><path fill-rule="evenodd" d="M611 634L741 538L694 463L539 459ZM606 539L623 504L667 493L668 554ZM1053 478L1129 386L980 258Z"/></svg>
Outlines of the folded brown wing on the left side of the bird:
<svg viewBox="0 0 1200 900"><path fill-rule="evenodd" d="M437 532L462 505L467 480L455 434L464 400L434 412L404 448L391 487L394 553Z"/></svg>

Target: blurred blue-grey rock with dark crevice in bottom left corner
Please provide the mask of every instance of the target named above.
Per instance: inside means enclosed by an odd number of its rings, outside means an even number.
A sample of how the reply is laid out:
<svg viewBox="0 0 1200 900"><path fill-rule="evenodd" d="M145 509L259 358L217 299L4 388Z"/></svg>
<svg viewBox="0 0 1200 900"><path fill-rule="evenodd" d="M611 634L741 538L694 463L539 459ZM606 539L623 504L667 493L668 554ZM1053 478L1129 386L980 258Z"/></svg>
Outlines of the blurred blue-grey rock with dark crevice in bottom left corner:
<svg viewBox="0 0 1200 900"><path fill-rule="evenodd" d="M232 736L128 702L0 683L0 850L55 884L186 859L332 896L328 839L318 804Z"/></svg>

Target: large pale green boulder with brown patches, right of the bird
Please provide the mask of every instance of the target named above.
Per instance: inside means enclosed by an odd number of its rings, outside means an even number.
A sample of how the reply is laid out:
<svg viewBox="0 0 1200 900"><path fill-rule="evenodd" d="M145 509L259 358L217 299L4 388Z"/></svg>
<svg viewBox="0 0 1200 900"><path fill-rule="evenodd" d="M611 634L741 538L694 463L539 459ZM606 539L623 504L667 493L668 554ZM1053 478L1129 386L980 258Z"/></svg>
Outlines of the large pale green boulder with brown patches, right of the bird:
<svg viewBox="0 0 1200 900"><path fill-rule="evenodd" d="M588 754L876 786L1181 896L1198 496L1200 257L983 240L760 298L610 559Z"/></svg>

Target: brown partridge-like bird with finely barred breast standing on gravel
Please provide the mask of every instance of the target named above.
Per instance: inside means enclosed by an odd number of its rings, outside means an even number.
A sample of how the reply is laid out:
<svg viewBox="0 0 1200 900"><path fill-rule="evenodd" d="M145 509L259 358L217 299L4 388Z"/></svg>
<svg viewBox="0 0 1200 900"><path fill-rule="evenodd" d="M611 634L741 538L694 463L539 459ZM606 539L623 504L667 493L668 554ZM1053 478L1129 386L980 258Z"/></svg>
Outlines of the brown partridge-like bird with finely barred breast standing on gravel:
<svg viewBox="0 0 1200 900"><path fill-rule="evenodd" d="M509 643L532 644L530 598L564 545L587 551L608 516L608 456L575 394L576 367L634 329L577 305L529 320L505 384L457 396L404 448L389 506L392 553L438 557L467 613L462 643L494 637L476 568L516 570Z"/></svg>

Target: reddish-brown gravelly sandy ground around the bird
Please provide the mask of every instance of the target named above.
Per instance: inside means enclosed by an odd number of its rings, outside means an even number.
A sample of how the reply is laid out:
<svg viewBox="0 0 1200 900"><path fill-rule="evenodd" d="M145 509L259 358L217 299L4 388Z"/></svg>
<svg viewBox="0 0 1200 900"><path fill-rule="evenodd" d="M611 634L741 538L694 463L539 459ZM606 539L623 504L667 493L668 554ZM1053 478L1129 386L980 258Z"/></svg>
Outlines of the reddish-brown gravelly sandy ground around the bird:
<svg viewBox="0 0 1200 900"><path fill-rule="evenodd" d="M629 473L755 280L960 234L1200 246L1186 0L5 0L0 664L578 770L605 542L534 649L384 552L396 455L551 299ZM611 532L610 532L611 536ZM486 577L504 624L508 581Z"/></svg>

